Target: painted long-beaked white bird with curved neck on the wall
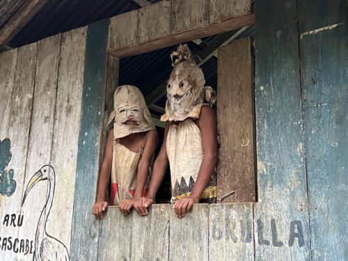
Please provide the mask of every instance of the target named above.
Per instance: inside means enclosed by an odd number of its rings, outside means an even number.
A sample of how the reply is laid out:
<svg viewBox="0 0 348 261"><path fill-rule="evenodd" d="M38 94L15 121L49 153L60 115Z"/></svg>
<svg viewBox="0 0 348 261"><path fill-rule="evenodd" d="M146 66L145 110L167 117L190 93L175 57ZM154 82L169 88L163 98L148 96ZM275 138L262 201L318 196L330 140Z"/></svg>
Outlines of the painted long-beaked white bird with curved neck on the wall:
<svg viewBox="0 0 348 261"><path fill-rule="evenodd" d="M54 168L50 165L45 165L40 168L40 171L35 173L33 177L29 180L26 185L24 192L24 197L22 200L22 206L28 196L29 191L40 181L48 180L48 195L46 199L46 204L43 207L40 219L38 221L38 226L35 232L35 252L33 253L33 260L69 260L68 248L56 239L47 234L46 223L49 216L49 212L52 207L52 202L54 198L54 187L56 185L56 174L54 173Z"/></svg>

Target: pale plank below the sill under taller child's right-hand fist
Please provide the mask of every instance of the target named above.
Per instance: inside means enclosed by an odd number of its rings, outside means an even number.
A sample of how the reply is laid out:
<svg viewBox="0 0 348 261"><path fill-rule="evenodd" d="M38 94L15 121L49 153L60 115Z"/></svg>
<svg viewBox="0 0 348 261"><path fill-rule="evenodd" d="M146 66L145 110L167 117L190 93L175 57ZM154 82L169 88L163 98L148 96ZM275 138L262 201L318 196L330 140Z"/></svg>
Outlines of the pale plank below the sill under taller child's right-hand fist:
<svg viewBox="0 0 348 261"><path fill-rule="evenodd" d="M171 212L169 260L208 260L209 205L193 205L191 212L179 219Z"/></svg>

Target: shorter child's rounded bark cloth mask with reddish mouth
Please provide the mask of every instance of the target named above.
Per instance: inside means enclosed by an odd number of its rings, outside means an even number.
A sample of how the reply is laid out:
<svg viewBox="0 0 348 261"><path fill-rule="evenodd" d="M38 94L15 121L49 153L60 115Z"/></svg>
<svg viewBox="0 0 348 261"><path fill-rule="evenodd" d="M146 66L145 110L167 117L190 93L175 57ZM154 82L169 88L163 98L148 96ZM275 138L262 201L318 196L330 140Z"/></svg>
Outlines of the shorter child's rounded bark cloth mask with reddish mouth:
<svg viewBox="0 0 348 261"><path fill-rule="evenodd" d="M132 85L119 86L113 95L114 108L108 125L113 122L113 139L122 138L132 133L155 129L150 111L139 88ZM134 120L136 125L126 125L127 120Z"/></svg>

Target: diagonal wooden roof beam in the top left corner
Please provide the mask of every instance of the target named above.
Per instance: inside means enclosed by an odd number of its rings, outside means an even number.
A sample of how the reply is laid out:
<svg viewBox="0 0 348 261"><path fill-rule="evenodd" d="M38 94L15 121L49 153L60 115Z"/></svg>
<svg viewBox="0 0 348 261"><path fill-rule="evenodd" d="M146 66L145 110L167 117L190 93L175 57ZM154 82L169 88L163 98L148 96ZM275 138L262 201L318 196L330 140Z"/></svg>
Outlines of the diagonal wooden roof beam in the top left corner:
<svg viewBox="0 0 348 261"><path fill-rule="evenodd" d="M0 47L6 45L48 0L30 0L0 30Z"/></svg>

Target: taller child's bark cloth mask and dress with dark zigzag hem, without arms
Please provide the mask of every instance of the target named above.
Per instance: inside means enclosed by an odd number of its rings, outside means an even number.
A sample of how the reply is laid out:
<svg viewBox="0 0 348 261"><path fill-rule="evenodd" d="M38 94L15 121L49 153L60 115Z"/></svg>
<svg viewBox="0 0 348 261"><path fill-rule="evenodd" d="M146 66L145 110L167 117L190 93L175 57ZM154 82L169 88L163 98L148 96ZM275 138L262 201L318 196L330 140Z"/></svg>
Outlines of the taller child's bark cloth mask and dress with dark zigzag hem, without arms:
<svg viewBox="0 0 348 261"><path fill-rule="evenodd" d="M166 150L171 167L172 203L189 196L196 183L203 160L200 129L193 122L199 118L203 101L216 101L214 90L204 87L203 72L191 58L187 45L180 45L171 54L174 69L167 85L166 114L162 121L170 121ZM176 59L175 59L176 58ZM200 202L216 202L216 171L207 184Z"/></svg>

